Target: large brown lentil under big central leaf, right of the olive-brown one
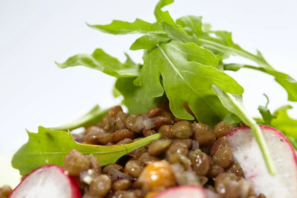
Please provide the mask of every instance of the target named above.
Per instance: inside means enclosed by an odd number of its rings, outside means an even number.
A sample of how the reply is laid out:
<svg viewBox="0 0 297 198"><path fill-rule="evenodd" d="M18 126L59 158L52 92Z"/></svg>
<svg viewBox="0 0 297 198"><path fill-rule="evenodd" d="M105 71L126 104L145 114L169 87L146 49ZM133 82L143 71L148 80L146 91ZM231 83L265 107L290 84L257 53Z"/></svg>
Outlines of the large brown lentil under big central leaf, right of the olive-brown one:
<svg viewBox="0 0 297 198"><path fill-rule="evenodd" d="M203 123L192 124L193 139L199 143L199 146L210 146L215 141L215 134L213 130Z"/></svg>

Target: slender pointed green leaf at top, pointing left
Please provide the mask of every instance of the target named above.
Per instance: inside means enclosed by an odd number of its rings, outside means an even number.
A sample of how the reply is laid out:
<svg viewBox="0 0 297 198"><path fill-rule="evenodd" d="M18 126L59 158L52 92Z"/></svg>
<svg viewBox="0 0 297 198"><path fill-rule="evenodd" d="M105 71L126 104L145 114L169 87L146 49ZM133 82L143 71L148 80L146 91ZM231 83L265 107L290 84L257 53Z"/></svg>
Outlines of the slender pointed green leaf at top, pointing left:
<svg viewBox="0 0 297 198"><path fill-rule="evenodd" d="M89 25L89 27L108 34L165 34L160 23L148 23L141 19L134 22L113 20L108 25Z"/></svg>

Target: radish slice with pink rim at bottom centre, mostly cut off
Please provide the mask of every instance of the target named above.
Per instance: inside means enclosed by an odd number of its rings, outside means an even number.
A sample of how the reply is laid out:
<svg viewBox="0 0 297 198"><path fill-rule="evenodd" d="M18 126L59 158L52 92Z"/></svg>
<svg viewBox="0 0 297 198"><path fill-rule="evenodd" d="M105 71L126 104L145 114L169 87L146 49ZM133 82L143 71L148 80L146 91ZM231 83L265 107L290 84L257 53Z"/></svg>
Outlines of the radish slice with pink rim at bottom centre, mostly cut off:
<svg viewBox="0 0 297 198"><path fill-rule="evenodd" d="M201 186L180 186L163 191L154 198L207 198Z"/></svg>

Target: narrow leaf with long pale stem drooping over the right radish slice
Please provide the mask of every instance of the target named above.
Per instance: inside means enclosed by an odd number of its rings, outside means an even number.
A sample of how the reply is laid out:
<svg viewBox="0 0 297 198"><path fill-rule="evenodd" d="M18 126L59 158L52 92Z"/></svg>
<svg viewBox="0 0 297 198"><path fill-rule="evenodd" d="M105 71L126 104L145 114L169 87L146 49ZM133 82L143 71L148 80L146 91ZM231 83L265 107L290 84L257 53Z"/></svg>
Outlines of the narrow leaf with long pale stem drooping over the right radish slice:
<svg viewBox="0 0 297 198"><path fill-rule="evenodd" d="M260 127L256 121L247 113L247 110L243 104L243 98L241 95L229 94L222 91L218 86L212 85L214 93L219 97L222 104L231 112L239 117L247 126L250 127L265 160L266 166L270 174L275 175L276 169L273 165L273 161L262 134Z"/></svg>

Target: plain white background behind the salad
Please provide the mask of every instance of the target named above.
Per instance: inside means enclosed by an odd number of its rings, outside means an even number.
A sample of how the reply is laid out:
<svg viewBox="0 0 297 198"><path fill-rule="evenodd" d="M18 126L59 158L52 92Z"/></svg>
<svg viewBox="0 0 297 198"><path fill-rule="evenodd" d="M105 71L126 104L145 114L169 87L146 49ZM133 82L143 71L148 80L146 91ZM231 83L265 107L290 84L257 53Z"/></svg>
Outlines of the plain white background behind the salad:
<svg viewBox="0 0 297 198"><path fill-rule="evenodd" d="M124 60L128 52L141 61L141 51L129 47L139 35L114 36L85 24L112 19L154 21L157 0L0 0L0 156L1 166L27 142L25 128L53 127L79 117L95 104L109 107L114 78L85 67L59 69L76 53L102 48ZM214 29L233 32L234 41L252 52L259 49L276 69L297 79L296 0L176 0L167 6L174 19L202 15ZM241 60L241 59L240 59ZM230 74L245 88L245 105L253 116L270 97L270 109L287 101L273 78L256 71ZM4 164L4 165L3 165ZM3 176L0 173L0 180Z"/></svg>

